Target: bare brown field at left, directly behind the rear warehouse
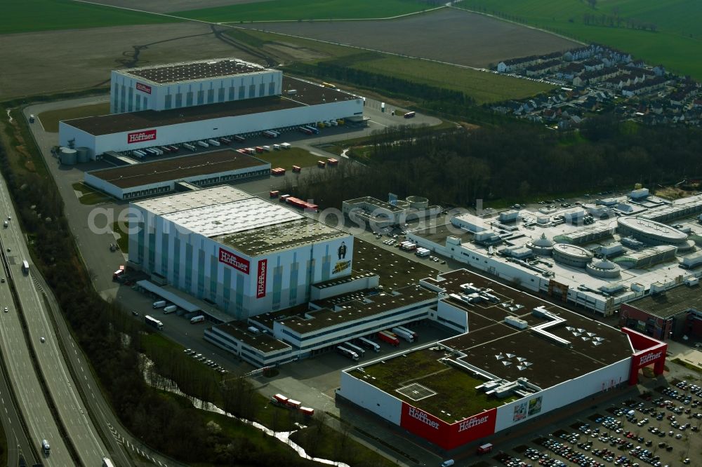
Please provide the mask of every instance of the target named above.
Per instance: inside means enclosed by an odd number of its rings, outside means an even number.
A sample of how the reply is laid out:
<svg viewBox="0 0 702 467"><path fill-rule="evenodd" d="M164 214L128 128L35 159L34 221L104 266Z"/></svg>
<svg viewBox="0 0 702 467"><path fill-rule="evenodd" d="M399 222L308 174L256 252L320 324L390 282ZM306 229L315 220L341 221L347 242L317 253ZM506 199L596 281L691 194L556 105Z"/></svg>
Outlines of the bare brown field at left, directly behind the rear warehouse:
<svg viewBox="0 0 702 467"><path fill-rule="evenodd" d="M32 32L2 39L0 99L109 86L110 71L126 66L218 57L266 64L197 23Z"/></svg>

